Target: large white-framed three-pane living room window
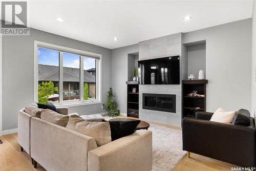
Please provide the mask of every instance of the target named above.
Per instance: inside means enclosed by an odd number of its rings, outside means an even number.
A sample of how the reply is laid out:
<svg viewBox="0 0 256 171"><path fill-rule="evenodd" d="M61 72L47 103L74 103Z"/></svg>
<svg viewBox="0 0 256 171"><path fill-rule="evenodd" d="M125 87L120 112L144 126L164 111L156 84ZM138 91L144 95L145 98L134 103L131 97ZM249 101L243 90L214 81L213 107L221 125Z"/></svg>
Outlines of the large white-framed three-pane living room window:
<svg viewBox="0 0 256 171"><path fill-rule="evenodd" d="M35 41L34 100L56 105L101 102L101 55Z"/></svg>

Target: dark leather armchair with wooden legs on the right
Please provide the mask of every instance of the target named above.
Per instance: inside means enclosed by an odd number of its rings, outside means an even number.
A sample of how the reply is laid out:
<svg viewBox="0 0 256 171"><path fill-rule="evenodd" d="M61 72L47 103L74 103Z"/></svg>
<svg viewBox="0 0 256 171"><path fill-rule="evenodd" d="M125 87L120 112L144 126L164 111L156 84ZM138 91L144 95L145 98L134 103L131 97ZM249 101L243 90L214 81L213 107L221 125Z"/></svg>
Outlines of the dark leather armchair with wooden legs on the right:
<svg viewBox="0 0 256 171"><path fill-rule="evenodd" d="M255 167L253 118L247 116L247 125L228 124L209 121L212 114L197 112L196 118L182 119L183 150L238 166Z"/></svg>

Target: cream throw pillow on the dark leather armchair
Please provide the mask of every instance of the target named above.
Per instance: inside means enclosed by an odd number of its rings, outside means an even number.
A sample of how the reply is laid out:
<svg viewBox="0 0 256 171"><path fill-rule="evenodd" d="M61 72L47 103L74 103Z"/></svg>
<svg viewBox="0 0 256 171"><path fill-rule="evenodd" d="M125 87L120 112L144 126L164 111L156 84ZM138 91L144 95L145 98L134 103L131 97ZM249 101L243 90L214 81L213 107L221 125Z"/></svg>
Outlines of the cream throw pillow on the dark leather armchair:
<svg viewBox="0 0 256 171"><path fill-rule="evenodd" d="M237 111L226 112L223 108L219 108L215 111L214 115L212 115L210 121L231 123L236 113Z"/></svg>

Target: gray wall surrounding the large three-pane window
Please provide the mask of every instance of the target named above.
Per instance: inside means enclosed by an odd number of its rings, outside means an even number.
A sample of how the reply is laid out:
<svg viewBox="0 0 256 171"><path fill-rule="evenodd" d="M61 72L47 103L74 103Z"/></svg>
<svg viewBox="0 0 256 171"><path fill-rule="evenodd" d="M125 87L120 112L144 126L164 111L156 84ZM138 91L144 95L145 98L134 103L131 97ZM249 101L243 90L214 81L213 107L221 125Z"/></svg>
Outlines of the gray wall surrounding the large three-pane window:
<svg viewBox="0 0 256 171"><path fill-rule="evenodd" d="M18 110L33 102L34 40L102 54L102 102L111 86L109 49L35 29L30 36L3 36L3 131L17 128ZM101 104L69 109L80 115L105 112Z"/></svg>

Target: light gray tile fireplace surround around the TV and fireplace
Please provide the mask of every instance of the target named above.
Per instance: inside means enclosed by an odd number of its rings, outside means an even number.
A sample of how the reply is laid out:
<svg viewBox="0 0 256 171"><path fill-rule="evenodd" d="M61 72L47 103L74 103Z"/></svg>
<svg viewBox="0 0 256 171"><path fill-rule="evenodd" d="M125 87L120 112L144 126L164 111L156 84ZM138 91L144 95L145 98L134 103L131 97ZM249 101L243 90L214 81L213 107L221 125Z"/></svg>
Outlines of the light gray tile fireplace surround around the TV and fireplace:
<svg viewBox="0 0 256 171"><path fill-rule="evenodd" d="M139 119L181 126L182 79L187 77L187 58L184 56L182 33L139 42L139 60L179 55L180 84L139 85ZM186 67L184 67L186 66ZM143 109L143 93L176 95L176 113Z"/></svg>

